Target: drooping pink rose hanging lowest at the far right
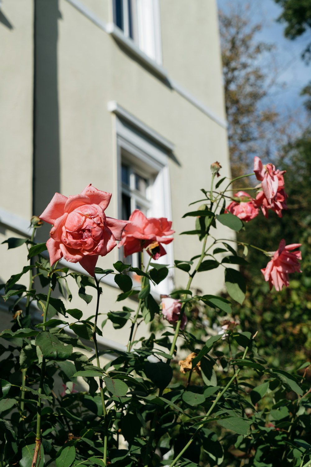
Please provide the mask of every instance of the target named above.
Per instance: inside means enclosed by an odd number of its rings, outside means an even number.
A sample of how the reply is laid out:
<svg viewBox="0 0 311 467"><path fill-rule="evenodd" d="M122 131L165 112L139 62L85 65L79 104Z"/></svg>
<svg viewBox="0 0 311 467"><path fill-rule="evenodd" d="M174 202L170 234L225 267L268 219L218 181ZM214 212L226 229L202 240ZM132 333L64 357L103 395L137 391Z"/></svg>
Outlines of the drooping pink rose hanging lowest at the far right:
<svg viewBox="0 0 311 467"><path fill-rule="evenodd" d="M301 246L301 243L293 243L285 246L285 240L281 240L279 248L274 252L273 258L266 268L261 269L265 281L269 281L270 290L274 285L277 291L282 290L283 285L288 287L291 272L301 272L298 260L301 260L301 251L292 251Z"/></svg>

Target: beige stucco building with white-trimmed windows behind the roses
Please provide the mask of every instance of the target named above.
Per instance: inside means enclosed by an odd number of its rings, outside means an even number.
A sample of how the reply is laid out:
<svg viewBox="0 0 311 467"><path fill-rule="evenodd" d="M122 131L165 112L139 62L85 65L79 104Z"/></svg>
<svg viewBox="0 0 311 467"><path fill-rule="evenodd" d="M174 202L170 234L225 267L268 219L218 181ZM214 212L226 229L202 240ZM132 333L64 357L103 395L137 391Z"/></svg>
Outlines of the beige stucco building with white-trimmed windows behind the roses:
<svg viewBox="0 0 311 467"><path fill-rule="evenodd" d="M197 255L197 237L179 235L194 219L182 216L209 188L212 162L230 176L216 1L3 0L0 43L0 241L28 235L30 217L56 191L69 196L91 183L112 193L111 217L139 208L173 220L161 261ZM1 248L4 283L26 253ZM115 248L98 266L120 255ZM185 288L187 273L170 271L156 298ZM194 288L214 293L223 282L219 268L198 274ZM113 276L103 285L103 312L117 311ZM93 315L92 302L79 300L70 308ZM127 328L104 329L107 345L123 345Z"/></svg>

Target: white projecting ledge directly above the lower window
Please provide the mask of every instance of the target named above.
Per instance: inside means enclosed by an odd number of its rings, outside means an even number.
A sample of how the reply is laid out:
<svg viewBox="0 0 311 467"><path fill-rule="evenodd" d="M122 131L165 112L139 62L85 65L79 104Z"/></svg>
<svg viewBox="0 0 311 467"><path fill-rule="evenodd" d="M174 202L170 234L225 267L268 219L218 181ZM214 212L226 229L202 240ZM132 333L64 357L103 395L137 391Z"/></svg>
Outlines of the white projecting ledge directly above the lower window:
<svg viewBox="0 0 311 467"><path fill-rule="evenodd" d="M147 135L153 141L163 146L167 151L173 152L175 146L172 142L167 140L164 136L153 130L151 127L146 125L143 121L139 120L132 113L121 107L115 100L108 102L108 110L117 115L117 117L129 122L132 127L137 128L139 131Z"/></svg>

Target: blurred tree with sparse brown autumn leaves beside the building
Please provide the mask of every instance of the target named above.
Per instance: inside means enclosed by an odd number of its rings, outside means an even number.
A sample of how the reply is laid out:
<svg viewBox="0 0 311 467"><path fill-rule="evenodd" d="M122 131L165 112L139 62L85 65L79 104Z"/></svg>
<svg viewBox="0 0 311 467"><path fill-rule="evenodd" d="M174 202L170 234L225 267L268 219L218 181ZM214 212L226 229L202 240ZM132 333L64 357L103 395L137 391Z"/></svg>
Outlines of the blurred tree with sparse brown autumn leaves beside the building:
<svg viewBox="0 0 311 467"><path fill-rule="evenodd" d="M231 171L238 177L249 171L255 155L270 154L286 132L276 109L265 103L274 76L258 63L273 46L256 41L261 24L251 26L248 9L237 5L226 13L220 10L219 22Z"/></svg>

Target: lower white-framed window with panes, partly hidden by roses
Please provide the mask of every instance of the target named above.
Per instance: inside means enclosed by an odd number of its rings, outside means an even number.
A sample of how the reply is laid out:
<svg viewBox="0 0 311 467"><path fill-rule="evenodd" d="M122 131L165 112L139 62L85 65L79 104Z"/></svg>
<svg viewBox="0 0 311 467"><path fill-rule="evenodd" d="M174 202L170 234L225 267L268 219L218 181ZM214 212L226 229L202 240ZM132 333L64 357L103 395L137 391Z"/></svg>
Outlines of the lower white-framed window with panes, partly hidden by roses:
<svg viewBox="0 0 311 467"><path fill-rule="evenodd" d="M117 159L119 183L119 216L127 220L134 209L140 209L146 217L166 217L172 219L170 206L167 154L124 120L117 118ZM173 264L173 244L165 245L166 255L158 262ZM144 264L149 255L144 252ZM124 259L120 249L120 260L140 267L141 254ZM157 291L167 294L173 289L173 269L159 284ZM140 282L134 276L133 282Z"/></svg>

